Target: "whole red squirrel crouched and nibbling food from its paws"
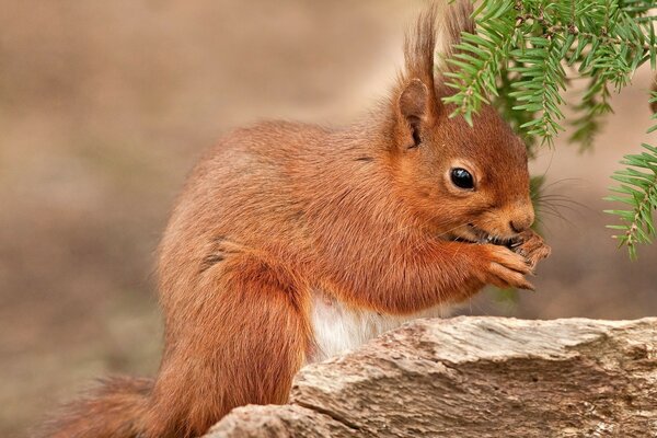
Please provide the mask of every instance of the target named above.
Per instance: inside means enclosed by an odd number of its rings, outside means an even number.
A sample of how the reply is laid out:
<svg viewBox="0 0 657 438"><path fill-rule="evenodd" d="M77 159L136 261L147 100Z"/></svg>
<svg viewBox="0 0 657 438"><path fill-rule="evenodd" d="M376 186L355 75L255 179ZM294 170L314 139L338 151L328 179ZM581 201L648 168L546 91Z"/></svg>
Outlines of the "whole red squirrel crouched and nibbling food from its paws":
<svg viewBox="0 0 657 438"><path fill-rule="evenodd" d="M209 151L160 245L158 376L107 380L46 436L197 437L235 406L286 403L307 362L487 284L532 289L550 249L530 230L526 148L493 107L471 128L441 100L435 51L453 54L471 14L470 0L423 13L367 118L261 123Z"/></svg>

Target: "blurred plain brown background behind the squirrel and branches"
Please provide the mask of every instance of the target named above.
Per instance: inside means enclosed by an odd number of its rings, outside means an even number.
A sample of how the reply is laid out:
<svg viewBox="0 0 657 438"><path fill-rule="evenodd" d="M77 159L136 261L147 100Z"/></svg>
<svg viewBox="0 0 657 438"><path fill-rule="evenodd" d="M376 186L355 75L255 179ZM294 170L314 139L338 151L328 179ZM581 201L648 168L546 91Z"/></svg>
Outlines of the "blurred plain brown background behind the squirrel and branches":
<svg viewBox="0 0 657 438"><path fill-rule="evenodd" d="M155 372L153 252L194 161L257 119L365 114L419 5L0 0L0 436L26 436L96 377ZM484 292L462 313L657 314L657 245L630 263L601 212L618 160L648 140L648 88L642 70L614 99L595 151L561 141L532 163L558 197L538 291Z"/></svg>

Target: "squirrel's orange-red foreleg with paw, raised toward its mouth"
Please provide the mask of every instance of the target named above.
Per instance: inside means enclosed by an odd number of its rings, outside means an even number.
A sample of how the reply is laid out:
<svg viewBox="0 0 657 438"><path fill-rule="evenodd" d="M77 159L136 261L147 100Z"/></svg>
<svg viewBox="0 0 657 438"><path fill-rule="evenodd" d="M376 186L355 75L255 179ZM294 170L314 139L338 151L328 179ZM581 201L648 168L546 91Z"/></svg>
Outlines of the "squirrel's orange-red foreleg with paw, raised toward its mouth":
<svg viewBox="0 0 657 438"><path fill-rule="evenodd" d="M525 279L531 272L526 257L504 246L433 240L403 242L388 251L343 263L370 274L356 276L336 270L327 276L331 288L356 307L390 314L459 302L486 284L533 288ZM371 274L381 272L381 266L385 266L384 275Z"/></svg>

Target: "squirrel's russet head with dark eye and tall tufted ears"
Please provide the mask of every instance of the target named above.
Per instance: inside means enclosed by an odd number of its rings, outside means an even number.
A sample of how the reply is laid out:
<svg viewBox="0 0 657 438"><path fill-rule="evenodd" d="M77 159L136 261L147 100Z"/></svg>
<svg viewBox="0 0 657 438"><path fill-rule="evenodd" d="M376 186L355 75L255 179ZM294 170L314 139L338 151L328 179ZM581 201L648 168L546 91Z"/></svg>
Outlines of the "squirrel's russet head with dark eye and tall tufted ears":
<svg viewBox="0 0 657 438"><path fill-rule="evenodd" d="M508 242L534 219L526 147L491 106L473 116L473 127L449 117L453 108L441 101L449 94L442 83L448 67L434 64L438 15L442 59L453 54L461 31L474 32L472 3L460 0L442 11L429 9L407 34L406 68L391 100L395 185L431 232Z"/></svg>

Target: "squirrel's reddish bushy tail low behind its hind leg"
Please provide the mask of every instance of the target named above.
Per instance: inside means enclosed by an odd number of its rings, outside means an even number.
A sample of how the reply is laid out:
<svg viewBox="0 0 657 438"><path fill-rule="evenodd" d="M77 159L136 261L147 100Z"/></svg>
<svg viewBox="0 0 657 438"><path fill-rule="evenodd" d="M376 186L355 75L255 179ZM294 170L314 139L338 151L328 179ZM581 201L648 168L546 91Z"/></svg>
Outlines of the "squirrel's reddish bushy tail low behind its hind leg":
<svg viewBox="0 0 657 438"><path fill-rule="evenodd" d="M137 438L148 408L152 379L112 378L46 424L41 438Z"/></svg>

